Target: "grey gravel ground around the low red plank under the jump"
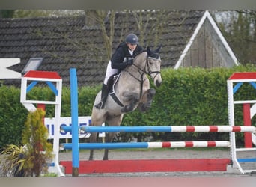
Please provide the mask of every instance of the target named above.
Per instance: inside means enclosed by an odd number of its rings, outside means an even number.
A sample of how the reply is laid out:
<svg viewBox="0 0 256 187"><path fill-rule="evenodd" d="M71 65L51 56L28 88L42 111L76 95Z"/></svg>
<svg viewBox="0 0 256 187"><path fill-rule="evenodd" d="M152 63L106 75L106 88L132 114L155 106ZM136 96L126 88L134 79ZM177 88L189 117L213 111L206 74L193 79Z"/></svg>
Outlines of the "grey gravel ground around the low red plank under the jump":
<svg viewBox="0 0 256 187"><path fill-rule="evenodd" d="M255 154L255 155L254 155ZM82 150L79 153L80 160L88 160L89 151ZM166 149L166 150L109 150L109 160L122 159L208 159L208 158L229 158L229 150L191 150L191 149ZM255 152L237 153L237 158L256 157ZM103 150L94 151L94 159L101 160ZM72 160L72 153L62 152L60 160ZM243 169L256 169L255 162L242 165ZM72 176L66 174L67 177ZM109 173L109 174L79 174L79 177L256 177L256 174L240 174L240 171L228 165L227 171L201 171L201 172L139 172L139 173Z"/></svg>

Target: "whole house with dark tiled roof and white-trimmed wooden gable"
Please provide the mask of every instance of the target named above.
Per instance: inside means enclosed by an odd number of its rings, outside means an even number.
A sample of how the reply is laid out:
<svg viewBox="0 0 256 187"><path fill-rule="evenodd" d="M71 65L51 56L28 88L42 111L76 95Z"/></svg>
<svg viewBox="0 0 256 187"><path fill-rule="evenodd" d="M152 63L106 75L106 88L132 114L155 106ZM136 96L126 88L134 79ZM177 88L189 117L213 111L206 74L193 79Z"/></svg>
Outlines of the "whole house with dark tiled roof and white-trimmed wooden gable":
<svg viewBox="0 0 256 187"><path fill-rule="evenodd" d="M144 47L162 44L162 68L238 64L207 10L117 12L113 50L130 32ZM79 86L101 84L109 61L100 27L89 25L86 16L0 19L0 58L21 59L9 68L21 72L38 57L43 62L37 70L58 72L63 85L70 85L69 70L76 68ZM4 85L20 86L20 80L4 79Z"/></svg>

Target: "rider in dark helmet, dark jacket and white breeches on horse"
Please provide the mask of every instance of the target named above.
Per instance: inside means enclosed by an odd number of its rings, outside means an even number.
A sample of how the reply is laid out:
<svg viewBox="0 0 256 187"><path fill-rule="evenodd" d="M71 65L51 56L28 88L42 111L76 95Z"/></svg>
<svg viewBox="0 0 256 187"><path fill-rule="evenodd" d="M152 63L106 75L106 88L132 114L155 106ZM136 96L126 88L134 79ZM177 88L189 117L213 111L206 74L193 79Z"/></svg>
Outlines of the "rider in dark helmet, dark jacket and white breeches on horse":
<svg viewBox="0 0 256 187"><path fill-rule="evenodd" d="M94 105L96 108L104 108L106 99L109 94L109 77L116 73L120 73L129 65L132 65L133 58L143 51L143 48L138 45L138 37L135 34L128 34L125 41L120 43L106 69L106 76L101 89L101 101Z"/></svg>

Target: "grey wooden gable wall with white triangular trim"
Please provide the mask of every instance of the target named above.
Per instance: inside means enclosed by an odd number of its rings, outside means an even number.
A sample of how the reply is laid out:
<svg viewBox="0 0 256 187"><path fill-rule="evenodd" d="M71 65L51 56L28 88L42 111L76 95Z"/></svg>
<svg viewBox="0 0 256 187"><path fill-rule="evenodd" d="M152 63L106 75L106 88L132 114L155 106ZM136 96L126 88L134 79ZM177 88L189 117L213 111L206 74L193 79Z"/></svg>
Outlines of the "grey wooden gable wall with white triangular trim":
<svg viewBox="0 0 256 187"><path fill-rule="evenodd" d="M205 11L174 69L181 67L233 67L238 61L218 26Z"/></svg>

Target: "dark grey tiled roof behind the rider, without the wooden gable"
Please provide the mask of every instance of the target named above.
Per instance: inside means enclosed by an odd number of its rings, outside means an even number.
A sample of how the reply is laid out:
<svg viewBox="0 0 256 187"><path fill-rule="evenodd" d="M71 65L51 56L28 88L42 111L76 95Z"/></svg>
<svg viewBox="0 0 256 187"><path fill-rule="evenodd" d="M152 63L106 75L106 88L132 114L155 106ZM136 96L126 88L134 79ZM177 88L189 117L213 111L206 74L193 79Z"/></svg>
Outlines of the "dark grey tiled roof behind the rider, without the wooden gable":
<svg viewBox="0 0 256 187"><path fill-rule="evenodd" d="M157 44L162 43L162 67L174 67L203 13L204 10L143 13L144 25L148 22L144 46L153 46L157 40ZM161 14L165 15L165 22L159 22ZM161 29L156 28L156 22L162 24ZM106 27L109 31L108 22ZM130 32L140 37L134 14L116 13L113 50ZM109 61L100 28L85 25L85 16L0 19L0 58L21 58L20 64L10 67L21 72L32 57L43 57L38 70L58 72L63 85L70 85L69 70L77 68L79 86L100 84ZM8 79L4 84L19 86L20 80Z"/></svg>

